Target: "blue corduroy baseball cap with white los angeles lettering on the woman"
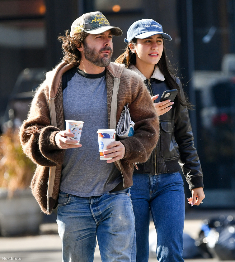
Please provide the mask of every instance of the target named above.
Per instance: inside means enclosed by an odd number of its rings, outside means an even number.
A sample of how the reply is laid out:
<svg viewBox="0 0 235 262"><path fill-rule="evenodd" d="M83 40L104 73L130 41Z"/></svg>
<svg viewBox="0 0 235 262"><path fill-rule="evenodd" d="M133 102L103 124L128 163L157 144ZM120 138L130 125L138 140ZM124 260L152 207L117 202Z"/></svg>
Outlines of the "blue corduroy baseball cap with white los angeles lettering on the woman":
<svg viewBox="0 0 235 262"><path fill-rule="evenodd" d="M127 39L125 42L128 44L134 37L144 39L149 36L161 34L164 39L172 40L171 36L162 31L162 25L153 19L141 19L134 22L127 31Z"/></svg>

